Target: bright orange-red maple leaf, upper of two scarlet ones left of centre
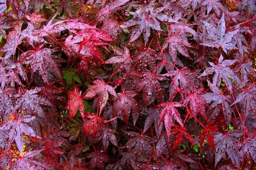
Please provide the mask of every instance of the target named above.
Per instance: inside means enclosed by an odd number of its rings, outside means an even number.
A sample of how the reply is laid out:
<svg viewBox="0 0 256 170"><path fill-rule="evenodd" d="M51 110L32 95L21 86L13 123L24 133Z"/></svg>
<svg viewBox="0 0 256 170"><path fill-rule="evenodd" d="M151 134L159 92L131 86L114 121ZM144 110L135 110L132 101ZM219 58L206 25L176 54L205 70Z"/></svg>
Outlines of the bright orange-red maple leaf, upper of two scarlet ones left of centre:
<svg viewBox="0 0 256 170"><path fill-rule="evenodd" d="M83 97L81 97L81 92L79 92L77 87L74 87L73 92L70 92L70 91L68 92L68 104L67 104L66 108L69 111L70 121L76 115L78 110L80 111L81 116L84 120L85 113L84 113L84 104L83 104L82 99L83 99Z"/></svg>

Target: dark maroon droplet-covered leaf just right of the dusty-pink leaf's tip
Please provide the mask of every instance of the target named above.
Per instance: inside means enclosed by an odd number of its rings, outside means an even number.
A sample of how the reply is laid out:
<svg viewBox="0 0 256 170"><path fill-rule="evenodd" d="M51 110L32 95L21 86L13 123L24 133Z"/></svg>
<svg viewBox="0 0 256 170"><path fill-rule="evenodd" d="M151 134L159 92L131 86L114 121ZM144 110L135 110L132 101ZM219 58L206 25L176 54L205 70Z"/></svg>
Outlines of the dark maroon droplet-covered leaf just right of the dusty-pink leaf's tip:
<svg viewBox="0 0 256 170"><path fill-rule="evenodd" d="M118 93L113 104L114 117L119 117L127 123L131 110L139 111L138 104L134 99L135 96L136 92L133 91Z"/></svg>

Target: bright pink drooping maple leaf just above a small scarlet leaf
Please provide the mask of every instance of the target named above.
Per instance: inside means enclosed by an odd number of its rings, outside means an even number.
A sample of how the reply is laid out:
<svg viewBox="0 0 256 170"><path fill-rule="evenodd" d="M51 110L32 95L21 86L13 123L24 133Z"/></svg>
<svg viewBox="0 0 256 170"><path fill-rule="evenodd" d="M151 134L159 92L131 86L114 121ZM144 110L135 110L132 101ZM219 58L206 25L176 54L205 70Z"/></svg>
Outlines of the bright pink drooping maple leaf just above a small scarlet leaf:
<svg viewBox="0 0 256 170"><path fill-rule="evenodd" d="M166 129L167 136L168 138L170 138L171 128L174 125L173 118L183 127L182 119L180 118L180 113L176 108L182 107L182 104L177 102L168 102L161 103L158 106L164 107L164 109L161 111L159 121L164 121L164 127Z"/></svg>

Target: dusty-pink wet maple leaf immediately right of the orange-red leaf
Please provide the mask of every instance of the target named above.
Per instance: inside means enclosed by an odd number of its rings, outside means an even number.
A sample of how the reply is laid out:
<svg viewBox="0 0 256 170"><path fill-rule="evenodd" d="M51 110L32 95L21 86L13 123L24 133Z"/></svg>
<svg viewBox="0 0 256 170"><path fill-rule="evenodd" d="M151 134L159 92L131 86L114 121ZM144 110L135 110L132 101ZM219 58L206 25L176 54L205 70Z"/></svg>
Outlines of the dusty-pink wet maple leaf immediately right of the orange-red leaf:
<svg viewBox="0 0 256 170"><path fill-rule="evenodd" d="M116 92L113 89L113 87L111 87L110 85L107 85L103 80L95 80L93 81L92 86L90 86L85 94L84 97L94 97L94 96L99 96L99 100L100 100L100 110L99 113L101 113L102 109L104 108L104 106L106 106L107 102L108 102L108 98L109 98L109 94L111 94L112 96L116 96Z"/></svg>

